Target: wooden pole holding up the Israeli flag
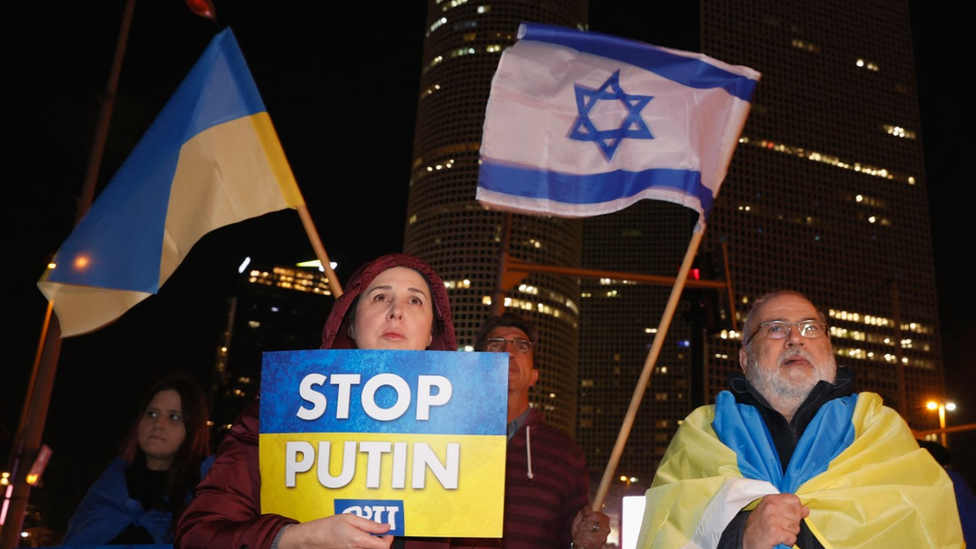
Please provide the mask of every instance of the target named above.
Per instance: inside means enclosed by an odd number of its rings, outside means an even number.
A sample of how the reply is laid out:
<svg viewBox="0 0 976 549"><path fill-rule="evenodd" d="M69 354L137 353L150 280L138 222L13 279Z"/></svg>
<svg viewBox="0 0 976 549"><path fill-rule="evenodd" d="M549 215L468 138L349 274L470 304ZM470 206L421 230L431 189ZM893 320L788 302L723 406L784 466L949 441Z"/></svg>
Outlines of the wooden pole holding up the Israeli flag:
<svg viewBox="0 0 976 549"><path fill-rule="evenodd" d="M641 398L644 396L647 384L651 380L651 373L654 371L657 357L661 354L664 339L667 337L668 328L671 326L671 319L674 318L674 311L678 308L678 300L681 298L685 281L688 279L688 271L691 270L691 264L694 262L695 255L698 253L698 246L701 244L704 233L705 222L703 219L700 219L691 235L691 242L688 243L685 258L681 262L678 276L674 281L674 286L671 288L671 297L668 298L668 304L664 308L664 314L661 315L661 322L658 324L657 334L654 336L654 343L651 345L651 351L647 354L647 360L644 361L644 370L641 371L640 378L637 380L637 386L634 387L634 395L630 399L630 407L627 409L627 415L624 417L624 422L620 426L620 433L617 434L617 442L614 444L613 451L610 453L610 460L607 462L607 468L603 472L603 479L600 481L600 487L597 489L596 497L593 499L592 507L594 511L600 511L603 508L603 502L607 498L607 492L610 491L610 483L613 481L617 464L620 463L620 455L623 454L624 446L627 444L627 437L630 436L630 429L634 425L634 418L637 416L637 409L640 408Z"/></svg>

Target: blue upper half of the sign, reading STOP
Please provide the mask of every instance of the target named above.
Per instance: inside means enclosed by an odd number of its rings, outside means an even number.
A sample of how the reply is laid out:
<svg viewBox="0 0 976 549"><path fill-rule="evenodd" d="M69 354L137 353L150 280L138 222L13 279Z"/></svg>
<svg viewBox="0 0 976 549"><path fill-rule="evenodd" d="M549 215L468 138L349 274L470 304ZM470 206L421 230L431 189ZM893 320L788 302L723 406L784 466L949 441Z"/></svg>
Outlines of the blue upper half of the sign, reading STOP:
<svg viewBox="0 0 976 549"><path fill-rule="evenodd" d="M264 353L262 434L505 435L507 403L504 353Z"/></svg>

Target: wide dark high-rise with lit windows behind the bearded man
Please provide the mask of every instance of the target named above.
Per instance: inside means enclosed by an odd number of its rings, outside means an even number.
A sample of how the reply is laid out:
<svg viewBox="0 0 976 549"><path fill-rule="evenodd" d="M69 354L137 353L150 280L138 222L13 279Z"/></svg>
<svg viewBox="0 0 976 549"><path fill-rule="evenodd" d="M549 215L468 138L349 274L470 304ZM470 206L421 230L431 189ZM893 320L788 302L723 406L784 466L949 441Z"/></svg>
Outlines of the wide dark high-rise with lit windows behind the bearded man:
<svg viewBox="0 0 976 549"><path fill-rule="evenodd" d="M934 426L924 405L944 381L908 2L702 6L703 51L763 73L709 228L737 307L806 293L859 389ZM730 367L715 355L738 346L713 342L709 394Z"/></svg>

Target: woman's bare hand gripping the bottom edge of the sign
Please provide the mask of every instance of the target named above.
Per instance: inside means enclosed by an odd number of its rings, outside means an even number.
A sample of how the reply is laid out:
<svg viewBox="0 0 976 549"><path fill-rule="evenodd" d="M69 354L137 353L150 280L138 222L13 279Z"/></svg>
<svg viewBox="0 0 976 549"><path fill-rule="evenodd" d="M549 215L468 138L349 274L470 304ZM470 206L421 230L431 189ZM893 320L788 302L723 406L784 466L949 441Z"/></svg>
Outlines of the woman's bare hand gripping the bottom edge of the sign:
<svg viewBox="0 0 976 549"><path fill-rule="evenodd" d="M289 526L278 540L279 549L389 549L393 536L389 524L342 514Z"/></svg>

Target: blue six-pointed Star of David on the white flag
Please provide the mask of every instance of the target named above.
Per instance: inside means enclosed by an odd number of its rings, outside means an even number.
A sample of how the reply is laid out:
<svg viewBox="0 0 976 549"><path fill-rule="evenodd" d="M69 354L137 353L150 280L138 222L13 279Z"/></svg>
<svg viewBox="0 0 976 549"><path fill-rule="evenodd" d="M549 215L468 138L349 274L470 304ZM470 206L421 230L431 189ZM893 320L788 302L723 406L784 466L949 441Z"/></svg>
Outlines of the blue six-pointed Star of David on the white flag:
<svg viewBox="0 0 976 549"><path fill-rule="evenodd" d="M599 88L592 89L575 84L576 110L579 116L569 130L569 138L578 141L593 141L600 147L603 157L609 162L617 147L624 139L654 139L647 123L641 118L641 111L654 99L652 95L632 95L624 93L620 87L620 71L607 78ZM619 101L627 109L620 121L620 127L609 130L597 129L590 120L590 113L600 101Z"/></svg>

